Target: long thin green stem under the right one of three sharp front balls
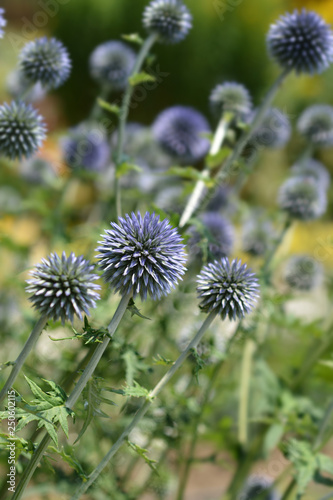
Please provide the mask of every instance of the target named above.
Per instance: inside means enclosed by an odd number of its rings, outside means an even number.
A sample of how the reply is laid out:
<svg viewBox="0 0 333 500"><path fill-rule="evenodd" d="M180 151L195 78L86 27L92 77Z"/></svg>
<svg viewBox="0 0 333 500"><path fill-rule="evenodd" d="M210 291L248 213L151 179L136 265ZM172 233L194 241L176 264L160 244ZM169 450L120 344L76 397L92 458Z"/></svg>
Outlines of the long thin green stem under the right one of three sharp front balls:
<svg viewBox="0 0 333 500"><path fill-rule="evenodd" d="M151 393L149 394L149 398L147 398L146 401L142 404L141 408L135 414L132 422L126 427L121 436L111 447L109 452L105 455L105 457L101 460L101 462L89 475L88 480L81 484L76 493L72 496L71 500L78 500L81 497L81 495L83 495L88 490L88 488L95 482L95 480L98 478L98 476L106 467L106 465L109 463L111 458L117 453L119 448L121 448L127 436L132 432L132 430L137 426L142 417L144 417L144 415L147 413L147 411L149 410L150 406L153 403L153 399L161 392L161 390L168 384L168 382L171 380L176 371L182 366L183 362L188 357L191 350L194 349L199 344L206 330L209 328L215 317L216 317L215 312L211 312L208 315L208 317L204 321L203 325L201 326L200 330L198 331L194 339L189 343L184 352L182 352L182 354L175 361L172 367L168 370L168 372L164 375L164 377L151 391Z"/></svg>

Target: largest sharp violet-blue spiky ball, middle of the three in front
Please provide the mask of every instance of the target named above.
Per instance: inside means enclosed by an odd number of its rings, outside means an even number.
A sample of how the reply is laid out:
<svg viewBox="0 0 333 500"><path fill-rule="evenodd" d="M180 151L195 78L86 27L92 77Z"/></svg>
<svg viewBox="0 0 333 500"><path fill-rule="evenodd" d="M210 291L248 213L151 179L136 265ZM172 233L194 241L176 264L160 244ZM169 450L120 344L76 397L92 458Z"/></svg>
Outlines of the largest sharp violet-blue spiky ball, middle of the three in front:
<svg viewBox="0 0 333 500"><path fill-rule="evenodd" d="M168 295L185 273L184 245L168 220L146 212L111 222L97 251L103 278L121 295Z"/></svg>

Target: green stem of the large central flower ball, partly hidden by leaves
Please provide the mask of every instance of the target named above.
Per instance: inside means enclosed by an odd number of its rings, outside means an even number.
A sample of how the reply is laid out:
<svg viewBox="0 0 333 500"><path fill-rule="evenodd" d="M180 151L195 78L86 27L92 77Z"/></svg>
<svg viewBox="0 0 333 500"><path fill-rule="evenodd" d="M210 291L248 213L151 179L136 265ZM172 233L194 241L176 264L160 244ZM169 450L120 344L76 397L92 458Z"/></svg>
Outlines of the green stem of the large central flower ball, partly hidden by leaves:
<svg viewBox="0 0 333 500"><path fill-rule="evenodd" d="M122 299L117 307L117 310L114 313L114 316L113 316L113 318L108 326L108 332L109 332L110 336L105 337L104 341L101 344L98 344L98 346L96 347L94 354L91 356L91 358L90 358L85 370L83 371L81 377L79 378L78 383L76 384L73 392L70 394L70 396L66 400L65 405L67 408L72 408L75 405L75 403L77 402L77 400L79 399L79 397L80 397L83 389L85 388L88 380L90 379L93 372L95 371L95 368L97 367L98 362L100 361L101 357L103 356L103 353L104 353L105 349L107 348L107 346L111 340L111 337L113 336L113 334L117 330L119 323L126 312L128 302L129 302L131 296L132 296L132 294L125 295L124 297L122 297ZM34 452L27 468L25 469L25 471L22 475L22 478L21 478L19 484L17 485L16 491L12 497L12 500L19 500L22 497L24 490L25 490L26 486L28 485L33 473L35 472L39 462L41 461L50 441L51 441L50 435L46 434L44 436L44 438L42 439L42 441L40 442L40 444L38 445L38 448Z"/></svg>

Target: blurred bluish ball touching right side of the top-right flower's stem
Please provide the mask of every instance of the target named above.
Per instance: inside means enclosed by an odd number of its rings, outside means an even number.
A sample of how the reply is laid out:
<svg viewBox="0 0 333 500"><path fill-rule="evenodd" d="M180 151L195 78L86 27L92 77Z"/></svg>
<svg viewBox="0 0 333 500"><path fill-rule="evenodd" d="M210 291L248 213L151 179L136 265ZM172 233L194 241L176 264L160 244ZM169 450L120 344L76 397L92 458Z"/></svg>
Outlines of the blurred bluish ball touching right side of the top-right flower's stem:
<svg viewBox="0 0 333 500"><path fill-rule="evenodd" d="M250 143L257 147L277 149L285 146L290 136L291 125L287 115L277 108L270 108Z"/></svg>

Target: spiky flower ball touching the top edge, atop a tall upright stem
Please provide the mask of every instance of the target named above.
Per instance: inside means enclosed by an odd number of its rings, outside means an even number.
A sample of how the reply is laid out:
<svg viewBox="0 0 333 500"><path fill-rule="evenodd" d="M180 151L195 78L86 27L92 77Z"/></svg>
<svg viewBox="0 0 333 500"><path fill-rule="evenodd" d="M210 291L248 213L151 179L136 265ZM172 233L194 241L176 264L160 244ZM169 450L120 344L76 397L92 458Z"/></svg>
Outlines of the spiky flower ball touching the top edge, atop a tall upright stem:
<svg viewBox="0 0 333 500"><path fill-rule="evenodd" d="M174 44L188 35L192 16L181 0L153 0L144 10L143 25L161 43Z"/></svg>

